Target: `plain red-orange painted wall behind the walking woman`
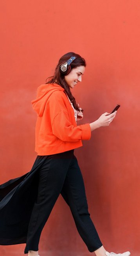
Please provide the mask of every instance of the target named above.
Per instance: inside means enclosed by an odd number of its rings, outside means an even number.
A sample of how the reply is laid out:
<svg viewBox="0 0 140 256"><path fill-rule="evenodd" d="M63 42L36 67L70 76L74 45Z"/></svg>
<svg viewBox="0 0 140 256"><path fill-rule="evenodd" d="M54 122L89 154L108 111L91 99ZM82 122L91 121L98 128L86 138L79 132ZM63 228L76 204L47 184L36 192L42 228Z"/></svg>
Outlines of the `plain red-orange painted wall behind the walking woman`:
<svg viewBox="0 0 140 256"><path fill-rule="evenodd" d="M72 94L93 122L116 104L113 122L75 150L89 211L108 251L138 256L140 237L140 2L138 0L1 1L0 183L27 173L34 152L31 100L66 52L87 67ZM25 244L0 246L23 255ZM39 243L40 256L91 255L60 196Z"/></svg>

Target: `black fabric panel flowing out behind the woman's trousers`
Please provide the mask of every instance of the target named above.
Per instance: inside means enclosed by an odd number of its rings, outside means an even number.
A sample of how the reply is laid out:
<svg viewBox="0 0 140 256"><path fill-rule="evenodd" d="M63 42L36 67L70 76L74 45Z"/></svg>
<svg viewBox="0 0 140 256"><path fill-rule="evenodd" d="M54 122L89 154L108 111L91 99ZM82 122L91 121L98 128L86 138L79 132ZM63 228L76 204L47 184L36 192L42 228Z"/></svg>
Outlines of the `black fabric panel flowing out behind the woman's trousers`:
<svg viewBox="0 0 140 256"><path fill-rule="evenodd" d="M29 173L0 185L0 245L26 243L42 163L36 158Z"/></svg>

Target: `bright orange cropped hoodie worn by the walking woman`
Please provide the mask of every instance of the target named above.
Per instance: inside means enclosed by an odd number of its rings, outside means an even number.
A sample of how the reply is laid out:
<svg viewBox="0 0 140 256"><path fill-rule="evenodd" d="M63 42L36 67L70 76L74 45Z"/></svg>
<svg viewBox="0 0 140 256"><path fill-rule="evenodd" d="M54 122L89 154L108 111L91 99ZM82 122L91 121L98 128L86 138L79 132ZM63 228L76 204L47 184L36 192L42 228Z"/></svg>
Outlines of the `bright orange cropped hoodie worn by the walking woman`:
<svg viewBox="0 0 140 256"><path fill-rule="evenodd" d="M54 84L42 84L32 107L37 112L35 151L39 156L57 154L83 146L91 138L90 124L77 126L74 109L64 89Z"/></svg>

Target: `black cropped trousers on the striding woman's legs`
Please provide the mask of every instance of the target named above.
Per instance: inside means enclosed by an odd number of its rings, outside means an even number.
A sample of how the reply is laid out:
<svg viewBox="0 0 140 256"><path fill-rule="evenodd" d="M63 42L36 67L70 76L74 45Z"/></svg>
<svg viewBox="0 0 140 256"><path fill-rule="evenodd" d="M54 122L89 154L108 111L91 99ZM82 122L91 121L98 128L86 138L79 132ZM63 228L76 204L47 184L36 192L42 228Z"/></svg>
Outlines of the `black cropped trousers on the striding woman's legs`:
<svg viewBox="0 0 140 256"><path fill-rule="evenodd" d="M74 149L63 153L37 156L34 165L43 161L39 169L38 196L29 221L24 253L38 251L41 231L59 194L70 207L77 230L90 252L102 246L88 212L83 176Z"/></svg>

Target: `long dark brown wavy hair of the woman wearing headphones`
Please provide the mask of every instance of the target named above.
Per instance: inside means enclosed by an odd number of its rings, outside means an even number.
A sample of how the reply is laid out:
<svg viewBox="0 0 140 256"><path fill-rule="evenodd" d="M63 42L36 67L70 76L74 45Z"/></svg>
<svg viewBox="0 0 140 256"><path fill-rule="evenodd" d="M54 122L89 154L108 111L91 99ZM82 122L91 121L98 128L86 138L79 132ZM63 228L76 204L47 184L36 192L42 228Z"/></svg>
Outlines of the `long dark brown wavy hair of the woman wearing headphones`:
<svg viewBox="0 0 140 256"><path fill-rule="evenodd" d="M72 61L72 63L70 64L71 69L74 69L76 67L79 66L84 66L86 67L86 61L84 58L82 58L79 54L76 54L74 52L68 52L66 54L64 54L60 59L59 62L56 66L56 69L54 71L54 76L49 76L46 81L48 80L47 83L57 83L59 84L61 87L63 87L65 89L64 93L66 93L70 99L70 101L72 102L74 108L79 111L80 109L78 108L78 105L75 101L74 96L72 95L71 91L70 91L70 87L68 86L68 84L65 81L65 75L62 74L60 72L60 66L61 64L65 63L70 57L75 56L77 57L76 59L74 59L74 61ZM47 84L45 83L45 84ZM81 110L82 112L84 111L83 109Z"/></svg>

